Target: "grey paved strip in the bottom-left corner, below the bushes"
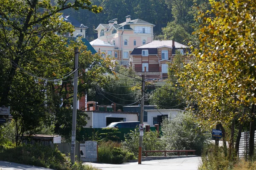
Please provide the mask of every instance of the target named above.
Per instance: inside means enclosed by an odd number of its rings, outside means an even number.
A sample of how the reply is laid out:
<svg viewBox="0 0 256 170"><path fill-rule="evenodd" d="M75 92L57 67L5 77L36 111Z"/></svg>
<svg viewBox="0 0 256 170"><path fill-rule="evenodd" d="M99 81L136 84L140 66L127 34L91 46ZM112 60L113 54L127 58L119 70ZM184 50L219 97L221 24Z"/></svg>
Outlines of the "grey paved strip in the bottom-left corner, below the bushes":
<svg viewBox="0 0 256 170"><path fill-rule="evenodd" d="M52 170L44 167L35 167L32 165L17 164L8 161L0 161L0 170Z"/></svg>

